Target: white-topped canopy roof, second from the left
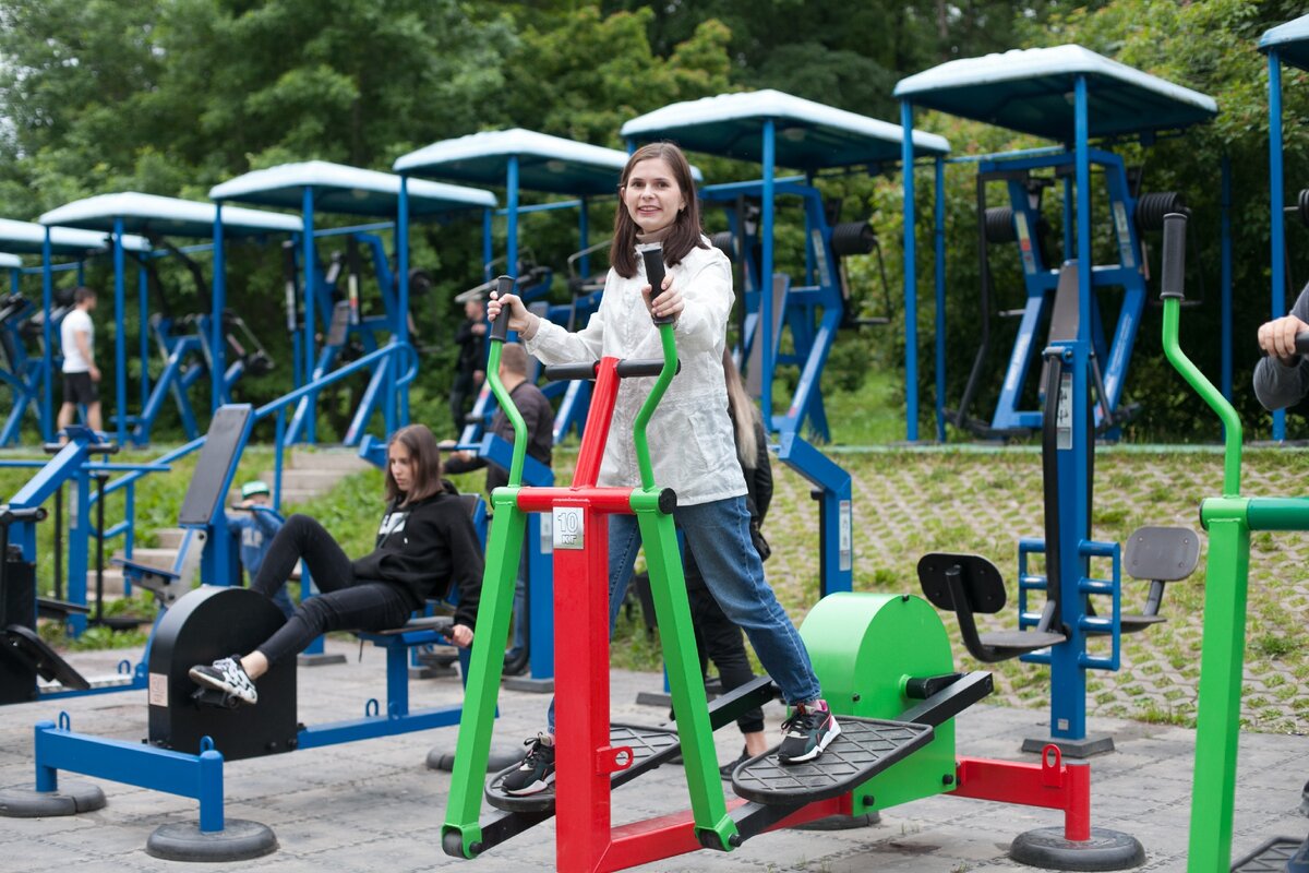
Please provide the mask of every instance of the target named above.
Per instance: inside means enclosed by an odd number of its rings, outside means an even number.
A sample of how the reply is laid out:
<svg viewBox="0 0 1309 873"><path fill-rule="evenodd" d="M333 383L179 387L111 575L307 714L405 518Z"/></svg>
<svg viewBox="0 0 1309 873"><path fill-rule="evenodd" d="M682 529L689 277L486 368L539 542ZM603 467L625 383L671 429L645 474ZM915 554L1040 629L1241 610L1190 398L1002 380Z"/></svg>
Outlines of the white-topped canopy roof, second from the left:
<svg viewBox="0 0 1309 873"><path fill-rule="evenodd" d="M126 191L65 203L38 221L111 232L114 221L122 219L124 230L135 233L212 237L216 215L212 203ZM223 209L223 228L230 233L296 233L304 224L289 215L230 207Z"/></svg>

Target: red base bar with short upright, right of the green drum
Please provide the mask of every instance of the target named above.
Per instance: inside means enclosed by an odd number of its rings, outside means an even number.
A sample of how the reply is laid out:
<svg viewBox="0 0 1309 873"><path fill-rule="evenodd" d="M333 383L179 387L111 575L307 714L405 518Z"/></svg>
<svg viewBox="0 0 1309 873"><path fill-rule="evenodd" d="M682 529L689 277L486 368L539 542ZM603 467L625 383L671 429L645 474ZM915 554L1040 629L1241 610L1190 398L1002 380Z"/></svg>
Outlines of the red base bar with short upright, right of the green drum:
<svg viewBox="0 0 1309 873"><path fill-rule="evenodd" d="M1062 809L1064 839L1090 839L1090 764L1064 764L1056 746L1046 746L1039 764L959 758L959 785L952 794L1001 804Z"/></svg>

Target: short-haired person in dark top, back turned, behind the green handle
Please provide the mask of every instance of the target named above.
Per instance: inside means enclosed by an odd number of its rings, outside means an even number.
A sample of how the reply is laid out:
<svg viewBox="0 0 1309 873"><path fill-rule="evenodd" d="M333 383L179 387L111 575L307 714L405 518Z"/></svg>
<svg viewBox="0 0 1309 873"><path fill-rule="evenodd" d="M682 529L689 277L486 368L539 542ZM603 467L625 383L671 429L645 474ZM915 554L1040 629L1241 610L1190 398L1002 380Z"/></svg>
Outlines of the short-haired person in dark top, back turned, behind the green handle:
<svg viewBox="0 0 1309 873"><path fill-rule="evenodd" d="M550 466L554 452L555 411L550 401L541 393L541 389L528 380L528 351L518 344L505 343L500 352L500 381L504 389L513 398L513 404L522 415L522 423L528 427L528 455ZM500 410L491 419L491 432L513 442L513 423L509 416ZM509 471L496 463L488 463L486 458L478 457L474 452L456 452L446 459L446 472L467 472L470 470L487 469L487 493L500 486L509 484ZM518 582L513 594L513 647L505 653L505 671L521 673L524 670L524 656L526 654L526 636L524 630L528 620L526 607L526 543L524 543L524 556L518 564Z"/></svg>

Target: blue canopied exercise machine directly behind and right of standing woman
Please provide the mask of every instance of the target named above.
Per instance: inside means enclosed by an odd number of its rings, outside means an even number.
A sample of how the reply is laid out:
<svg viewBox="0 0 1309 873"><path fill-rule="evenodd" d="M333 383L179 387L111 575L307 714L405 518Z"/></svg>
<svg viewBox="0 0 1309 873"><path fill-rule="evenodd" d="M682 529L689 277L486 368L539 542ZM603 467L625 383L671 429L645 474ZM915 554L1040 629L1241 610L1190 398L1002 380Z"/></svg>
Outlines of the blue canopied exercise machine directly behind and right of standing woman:
<svg viewBox="0 0 1309 873"><path fill-rule="evenodd" d="M721 94L673 103L623 124L628 147L668 139L690 152L719 154L761 165L754 182L706 186L706 203L728 208L737 259L745 276L742 361L747 381L758 381L764 425L778 433L778 457L814 486L819 500L819 596L851 590L853 576L851 478L804 436L805 425L818 438L829 438L819 377L827 353L844 321L844 271L839 253L861 250L870 236L865 223L833 226L822 196L814 187L823 170L865 168L877 173L902 153L899 127L823 106L775 90ZM949 143L931 134L914 134L916 147L944 156ZM802 177L778 178L779 166L804 170ZM805 281L774 272L774 223L779 198L800 198L805 216ZM757 200L758 228L738 204ZM843 249L843 241L856 243ZM768 276L767 281L761 280ZM906 314L912 321L912 314ZM783 355L781 334L792 338L793 353ZM779 364L800 366L800 382L785 414L774 412L775 372ZM753 372L751 372L753 370ZM910 423L916 420L911 414Z"/></svg>

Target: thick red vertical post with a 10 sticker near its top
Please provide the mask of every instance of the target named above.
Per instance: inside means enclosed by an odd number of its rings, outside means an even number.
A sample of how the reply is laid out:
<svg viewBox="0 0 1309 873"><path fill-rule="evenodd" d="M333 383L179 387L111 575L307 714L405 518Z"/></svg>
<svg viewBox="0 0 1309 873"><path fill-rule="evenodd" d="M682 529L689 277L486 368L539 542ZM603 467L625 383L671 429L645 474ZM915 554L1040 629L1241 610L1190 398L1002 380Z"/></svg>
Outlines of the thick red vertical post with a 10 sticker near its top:
<svg viewBox="0 0 1309 873"><path fill-rule="evenodd" d="M555 503L555 866L600 869L610 842L609 524L589 500ZM562 537L562 534L565 534Z"/></svg>

